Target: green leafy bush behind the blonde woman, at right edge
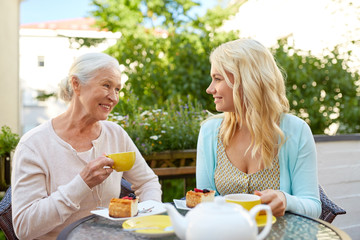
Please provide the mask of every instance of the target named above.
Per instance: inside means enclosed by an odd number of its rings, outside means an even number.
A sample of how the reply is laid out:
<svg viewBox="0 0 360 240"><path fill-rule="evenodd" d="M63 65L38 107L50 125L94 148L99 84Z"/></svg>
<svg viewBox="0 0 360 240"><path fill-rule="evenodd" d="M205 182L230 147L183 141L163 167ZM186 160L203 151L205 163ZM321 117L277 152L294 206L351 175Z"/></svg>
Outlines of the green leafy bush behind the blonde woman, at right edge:
<svg viewBox="0 0 360 240"><path fill-rule="evenodd" d="M274 55L287 74L291 112L304 119L314 134L324 134L331 124L337 133L360 132L360 77L351 72L337 47L318 58L279 41Z"/></svg>

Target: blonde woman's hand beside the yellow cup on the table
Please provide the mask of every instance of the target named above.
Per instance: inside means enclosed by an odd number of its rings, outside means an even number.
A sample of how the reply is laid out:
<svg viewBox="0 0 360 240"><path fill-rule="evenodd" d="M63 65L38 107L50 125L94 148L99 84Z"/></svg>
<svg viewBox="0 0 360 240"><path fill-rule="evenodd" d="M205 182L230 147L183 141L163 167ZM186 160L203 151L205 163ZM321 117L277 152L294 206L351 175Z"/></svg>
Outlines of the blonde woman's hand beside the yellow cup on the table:
<svg viewBox="0 0 360 240"><path fill-rule="evenodd" d="M261 192L255 191L254 194L260 196L262 204L269 205L275 217L284 216L286 208L286 197L284 193L278 190L266 189Z"/></svg>

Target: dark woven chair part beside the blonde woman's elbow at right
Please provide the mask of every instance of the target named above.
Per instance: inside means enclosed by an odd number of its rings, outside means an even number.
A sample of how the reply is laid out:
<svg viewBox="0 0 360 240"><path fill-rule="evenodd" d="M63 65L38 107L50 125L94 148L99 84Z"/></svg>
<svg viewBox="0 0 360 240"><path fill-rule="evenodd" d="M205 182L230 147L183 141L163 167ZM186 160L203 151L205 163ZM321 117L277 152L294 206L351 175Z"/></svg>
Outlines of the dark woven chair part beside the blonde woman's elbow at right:
<svg viewBox="0 0 360 240"><path fill-rule="evenodd" d="M333 201L329 199L329 197L326 195L326 192L322 188L322 186L319 184L319 192L320 192L320 200L321 200L321 215L320 219L324 220L328 223L332 223L334 221L335 217L340 214L346 214L346 211L336 205Z"/></svg>

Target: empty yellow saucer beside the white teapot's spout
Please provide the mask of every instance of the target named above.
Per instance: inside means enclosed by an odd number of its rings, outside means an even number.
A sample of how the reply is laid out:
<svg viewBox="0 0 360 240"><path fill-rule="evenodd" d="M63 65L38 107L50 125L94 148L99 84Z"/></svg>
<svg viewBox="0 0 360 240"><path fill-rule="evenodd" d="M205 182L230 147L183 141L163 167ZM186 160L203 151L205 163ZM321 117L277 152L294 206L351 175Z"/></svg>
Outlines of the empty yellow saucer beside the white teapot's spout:
<svg viewBox="0 0 360 240"><path fill-rule="evenodd" d="M159 238L174 234L170 217L167 215L136 217L126 220L122 226L125 231L134 228L139 229L132 232L145 237Z"/></svg>

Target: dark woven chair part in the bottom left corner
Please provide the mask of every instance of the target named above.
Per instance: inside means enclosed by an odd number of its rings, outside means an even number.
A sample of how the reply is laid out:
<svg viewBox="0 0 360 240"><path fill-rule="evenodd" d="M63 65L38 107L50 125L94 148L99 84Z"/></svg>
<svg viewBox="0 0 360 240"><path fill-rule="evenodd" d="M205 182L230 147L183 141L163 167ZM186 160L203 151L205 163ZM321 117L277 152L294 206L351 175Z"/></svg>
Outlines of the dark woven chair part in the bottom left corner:
<svg viewBox="0 0 360 240"><path fill-rule="evenodd" d="M12 225L11 186L7 189L4 198L0 202L0 228L8 240L18 239Z"/></svg>

